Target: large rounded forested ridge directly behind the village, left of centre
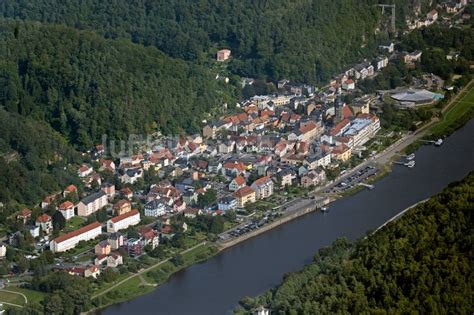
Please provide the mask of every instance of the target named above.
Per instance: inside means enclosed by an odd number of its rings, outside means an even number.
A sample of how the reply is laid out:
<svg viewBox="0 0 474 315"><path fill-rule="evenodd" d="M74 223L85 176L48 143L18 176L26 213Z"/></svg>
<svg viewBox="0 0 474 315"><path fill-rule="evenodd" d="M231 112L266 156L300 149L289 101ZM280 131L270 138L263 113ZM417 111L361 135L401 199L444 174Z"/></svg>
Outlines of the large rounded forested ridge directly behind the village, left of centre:
<svg viewBox="0 0 474 315"><path fill-rule="evenodd" d="M224 101L200 66L64 26L1 20L0 60L0 105L84 148L102 134L195 132Z"/></svg>

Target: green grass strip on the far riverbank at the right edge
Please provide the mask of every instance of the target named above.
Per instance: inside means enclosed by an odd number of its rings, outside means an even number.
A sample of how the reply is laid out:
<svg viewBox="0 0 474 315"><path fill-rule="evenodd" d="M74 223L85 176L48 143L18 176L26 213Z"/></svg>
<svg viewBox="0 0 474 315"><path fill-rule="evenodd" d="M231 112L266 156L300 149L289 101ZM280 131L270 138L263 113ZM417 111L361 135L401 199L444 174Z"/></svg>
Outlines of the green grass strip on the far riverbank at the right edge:
<svg viewBox="0 0 474 315"><path fill-rule="evenodd" d="M450 109L444 113L441 120L431 127L436 136L451 133L474 115L474 87L461 97Z"/></svg>

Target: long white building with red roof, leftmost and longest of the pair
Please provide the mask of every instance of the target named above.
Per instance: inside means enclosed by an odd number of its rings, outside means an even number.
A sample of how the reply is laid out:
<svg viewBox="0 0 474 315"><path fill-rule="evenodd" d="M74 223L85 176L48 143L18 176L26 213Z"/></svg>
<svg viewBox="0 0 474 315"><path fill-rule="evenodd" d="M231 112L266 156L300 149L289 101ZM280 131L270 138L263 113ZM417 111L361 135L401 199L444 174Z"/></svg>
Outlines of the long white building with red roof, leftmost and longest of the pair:
<svg viewBox="0 0 474 315"><path fill-rule="evenodd" d="M96 238L102 233L102 225L94 222L80 229L61 235L51 241L49 247L53 253L64 252L76 247L80 241L88 241Z"/></svg>

